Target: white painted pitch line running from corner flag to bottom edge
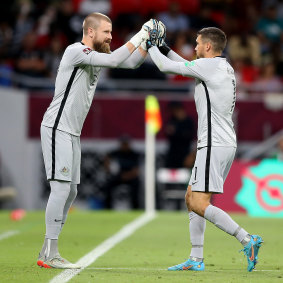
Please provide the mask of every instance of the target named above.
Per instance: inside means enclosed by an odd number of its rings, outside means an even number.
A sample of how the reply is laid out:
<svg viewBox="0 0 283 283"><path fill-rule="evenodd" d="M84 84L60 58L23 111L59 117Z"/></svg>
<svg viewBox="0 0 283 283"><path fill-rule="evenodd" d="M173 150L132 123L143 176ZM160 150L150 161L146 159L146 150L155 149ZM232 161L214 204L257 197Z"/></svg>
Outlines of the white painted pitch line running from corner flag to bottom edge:
<svg viewBox="0 0 283 283"><path fill-rule="evenodd" d="M136 230L138 230L140 227L144 226L151 220L153 220L156 217L155 213L145 213L142 216L138 217L131 223L125 225L122 227L122 229L114 234L112 237L108 238L104 242L102 242L99 246L97 246L95 249L90 251L88 254L80 258L76 264L79 264L82 266L80 269L66 269L65 271L61 272L57 276L55 276L50 283L65 283L71 280L74 276L76 276L78 273L83 271L86 267L91 265L93 262L95 262L100 256L104 255L106 252L108 252L110 249L112 249L114 246L116 246L118 243L122 242L124 239L131 236Z"/></svg>

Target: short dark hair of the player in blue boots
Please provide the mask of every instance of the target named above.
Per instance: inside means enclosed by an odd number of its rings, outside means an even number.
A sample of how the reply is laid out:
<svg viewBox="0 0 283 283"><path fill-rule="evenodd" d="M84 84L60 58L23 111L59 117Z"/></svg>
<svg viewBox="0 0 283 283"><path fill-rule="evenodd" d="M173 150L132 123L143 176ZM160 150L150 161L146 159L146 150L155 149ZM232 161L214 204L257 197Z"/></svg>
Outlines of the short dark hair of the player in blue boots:
<svg viewBox="0 0 283 283"><path fill-rule="evenodd" d="M215 52L222 52L227 43L226 34L219 28L203 28L198 31L197 35L201 35L203 41L210 41Z"/></svg>

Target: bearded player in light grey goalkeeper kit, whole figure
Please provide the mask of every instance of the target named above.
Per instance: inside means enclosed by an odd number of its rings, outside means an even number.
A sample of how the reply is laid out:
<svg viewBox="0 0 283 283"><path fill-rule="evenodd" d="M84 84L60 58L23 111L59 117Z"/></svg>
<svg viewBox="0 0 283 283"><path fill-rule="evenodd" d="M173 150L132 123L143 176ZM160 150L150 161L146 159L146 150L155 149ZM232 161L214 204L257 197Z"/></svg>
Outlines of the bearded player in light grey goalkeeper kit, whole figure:
<svg viewBox="0 0 283 283"><path fill-rule="evenodd" d="M51 192L46 206L46 234L37 264L45 268L80 268L61 257L59 234L80 183L80 134L102 67L137 68L146 55L152 20L125 45L110 52L112 22L100 13L83 22L81 42L69 45L59 65L53 100L41 123L41 144Z"/></svg>

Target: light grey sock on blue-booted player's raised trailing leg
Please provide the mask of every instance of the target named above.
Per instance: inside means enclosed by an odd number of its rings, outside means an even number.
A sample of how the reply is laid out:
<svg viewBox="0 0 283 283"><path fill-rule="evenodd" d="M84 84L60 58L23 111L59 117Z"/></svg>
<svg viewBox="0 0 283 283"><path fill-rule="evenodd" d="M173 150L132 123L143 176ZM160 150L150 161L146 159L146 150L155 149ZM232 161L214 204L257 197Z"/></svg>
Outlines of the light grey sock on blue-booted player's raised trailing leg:
<svg viewBox="0 0 283 283"><path fill-rule="evenodd" d="M216 206L210 204L204 212L204 218L231 236L236 237L243 245L250 240L249 233L241 228L226 212Z"/></svg>

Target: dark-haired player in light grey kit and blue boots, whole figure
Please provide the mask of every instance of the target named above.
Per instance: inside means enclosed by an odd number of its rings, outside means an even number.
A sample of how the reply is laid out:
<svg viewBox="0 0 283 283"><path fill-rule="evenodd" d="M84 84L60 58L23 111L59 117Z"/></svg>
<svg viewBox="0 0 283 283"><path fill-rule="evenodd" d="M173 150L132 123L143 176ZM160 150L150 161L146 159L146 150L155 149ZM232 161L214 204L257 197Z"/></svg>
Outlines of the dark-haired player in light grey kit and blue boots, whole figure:
<svg viewBox="0 0 283 283"><path fill-rule="evenodd" d="M168 270L205 269L203 244L208 220L243 245L247 270L252 271L258 260L262 238L249 234L226 212L210 203L213 194L223 193L223 184L237 147L232 122L236 80L233 68L222 56L226 35L215 27L200 30L196 38L197 59L188 62L166 45L165 27L161 22L149 33L147 49L160 71L195 78L194 99L198 113L197 155L185 195L192 248L188 260Z"/></svg>

